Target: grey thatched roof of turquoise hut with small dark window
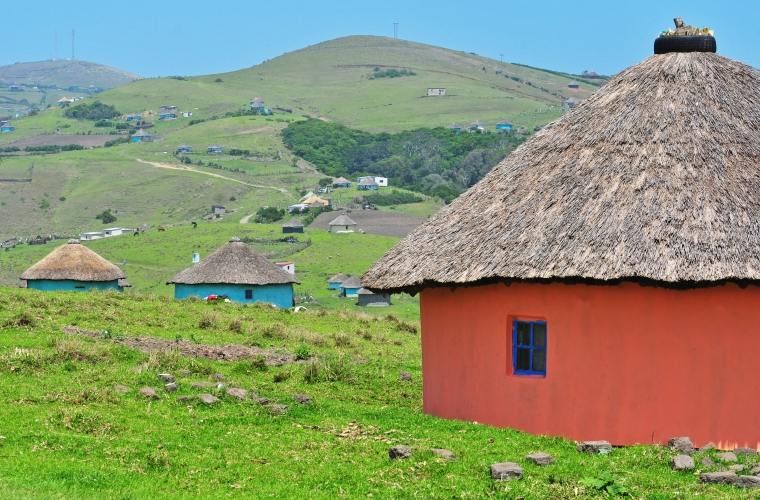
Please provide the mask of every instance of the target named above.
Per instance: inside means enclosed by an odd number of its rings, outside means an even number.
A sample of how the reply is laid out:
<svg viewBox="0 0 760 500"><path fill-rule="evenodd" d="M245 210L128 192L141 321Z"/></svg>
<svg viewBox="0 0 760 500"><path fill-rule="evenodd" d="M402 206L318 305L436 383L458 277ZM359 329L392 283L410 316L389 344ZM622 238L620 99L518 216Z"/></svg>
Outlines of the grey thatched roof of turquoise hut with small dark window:
<svg viewBox="0 0 760 500"><path fill-rule="evenodd" d="M166 282L167 285L203 283L278 285L301 282L292 274L269 262L263 255L256 253L239 238L232 238L216 252L172 276Z"/></svg>

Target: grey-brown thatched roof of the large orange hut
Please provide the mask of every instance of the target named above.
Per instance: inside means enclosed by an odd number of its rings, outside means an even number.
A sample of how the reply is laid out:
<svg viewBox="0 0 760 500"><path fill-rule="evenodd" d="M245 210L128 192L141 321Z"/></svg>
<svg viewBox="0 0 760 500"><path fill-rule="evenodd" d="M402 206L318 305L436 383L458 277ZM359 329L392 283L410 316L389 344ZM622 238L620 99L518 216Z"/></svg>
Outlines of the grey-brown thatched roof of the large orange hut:
<svg viewBox="0 0 760 500"><path fill-rule="evenodd" d="M536 133L362 283L760 282L758 102L760 72L745 64L652 56Z"/></svg>

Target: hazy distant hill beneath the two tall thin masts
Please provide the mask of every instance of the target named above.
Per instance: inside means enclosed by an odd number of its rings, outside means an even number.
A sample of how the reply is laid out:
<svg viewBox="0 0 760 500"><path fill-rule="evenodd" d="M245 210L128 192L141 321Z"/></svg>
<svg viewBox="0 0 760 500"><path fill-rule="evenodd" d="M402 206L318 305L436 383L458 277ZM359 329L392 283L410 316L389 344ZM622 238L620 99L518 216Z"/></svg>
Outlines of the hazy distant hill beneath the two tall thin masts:
<svg viewBox="0 0 760 500"><path fill-rule="evenodd" d="M57 85L59 88L78 85L114 88L142 77L117 68L89 61L58 60L0 66L0 83Z"/></svg>

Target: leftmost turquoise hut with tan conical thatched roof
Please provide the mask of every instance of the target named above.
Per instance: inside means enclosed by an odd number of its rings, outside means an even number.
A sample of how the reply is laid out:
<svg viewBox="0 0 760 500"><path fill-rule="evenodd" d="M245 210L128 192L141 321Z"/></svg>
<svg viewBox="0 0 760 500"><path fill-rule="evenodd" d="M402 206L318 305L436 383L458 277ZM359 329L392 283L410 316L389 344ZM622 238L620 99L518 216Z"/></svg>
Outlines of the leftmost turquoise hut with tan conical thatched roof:
<svg viewBox="0 0 760 500"><path fill-rule="evenodd" d="M20 279L27 288L35 290L122 291L128 285L118 266L108 262L79 240L69 240L50 252L44 259L24 271Z"/></svg>

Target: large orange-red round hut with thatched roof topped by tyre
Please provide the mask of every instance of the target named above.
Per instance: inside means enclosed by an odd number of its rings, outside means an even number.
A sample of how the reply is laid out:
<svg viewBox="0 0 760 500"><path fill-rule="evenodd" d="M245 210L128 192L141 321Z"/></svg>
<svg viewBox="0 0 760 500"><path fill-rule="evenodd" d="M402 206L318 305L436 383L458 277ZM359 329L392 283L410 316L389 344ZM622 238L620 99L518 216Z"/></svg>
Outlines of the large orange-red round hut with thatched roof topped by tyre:
<svg viewBox="0 0 760 500"><path fill-rule="evenodd" d="M425 413L758 448L760 72L655 48L362 276L420 293Z"/></svg>

